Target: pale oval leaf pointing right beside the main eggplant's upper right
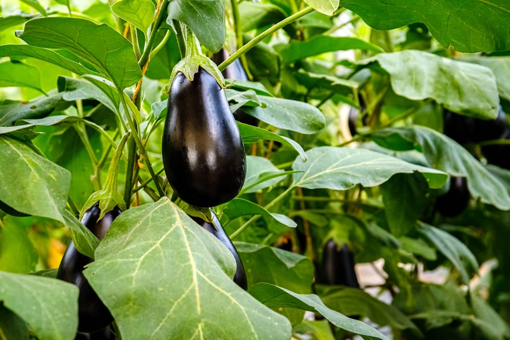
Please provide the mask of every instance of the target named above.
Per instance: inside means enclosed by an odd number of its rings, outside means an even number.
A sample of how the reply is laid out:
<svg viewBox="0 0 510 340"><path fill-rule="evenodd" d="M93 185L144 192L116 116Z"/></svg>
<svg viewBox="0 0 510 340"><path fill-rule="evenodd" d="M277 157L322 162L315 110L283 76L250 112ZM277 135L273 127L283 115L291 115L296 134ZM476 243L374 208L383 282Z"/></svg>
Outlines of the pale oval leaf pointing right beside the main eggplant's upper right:
<svg viewBox="0 0 510 340"><path fill-rule="evenodd" d="M263 108L245 107L244 110L270 125L302 134L314 134L325 126L322 112L308 103L265 96L259 99Z"/></svg>

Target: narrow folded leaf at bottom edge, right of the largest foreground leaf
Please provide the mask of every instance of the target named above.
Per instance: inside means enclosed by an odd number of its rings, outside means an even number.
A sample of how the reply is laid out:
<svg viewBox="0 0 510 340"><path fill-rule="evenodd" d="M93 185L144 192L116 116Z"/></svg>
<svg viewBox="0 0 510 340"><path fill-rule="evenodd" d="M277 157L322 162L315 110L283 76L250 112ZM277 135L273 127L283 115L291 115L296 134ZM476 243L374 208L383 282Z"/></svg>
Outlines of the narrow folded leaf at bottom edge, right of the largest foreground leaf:
<svg viewBox="0 0 510 340"><path fill-rule="evenodd" d="M329 309L317 295L297 294L268 283L253 285L248 292L266 306L291 307L317 312L335 326L355 334L360 334L364 339L388 340L386 336L369 325L359 320L350 319L333 309Z"/></svg>

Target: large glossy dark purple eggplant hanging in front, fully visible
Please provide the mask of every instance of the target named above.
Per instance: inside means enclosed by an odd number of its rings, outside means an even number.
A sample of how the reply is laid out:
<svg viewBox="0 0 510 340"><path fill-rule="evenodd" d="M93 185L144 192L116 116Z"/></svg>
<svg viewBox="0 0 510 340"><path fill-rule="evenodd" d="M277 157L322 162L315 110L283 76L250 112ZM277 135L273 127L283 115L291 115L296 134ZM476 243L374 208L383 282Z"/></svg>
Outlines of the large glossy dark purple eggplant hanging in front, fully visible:
<svg viewBox="0 0 510 340"><path fill-rule="evenodd" d="M225 91L201 67L190 82L175 76L168 97L162 156L168 182L192 205L230 201L246 177L246 154Z"/></svg>

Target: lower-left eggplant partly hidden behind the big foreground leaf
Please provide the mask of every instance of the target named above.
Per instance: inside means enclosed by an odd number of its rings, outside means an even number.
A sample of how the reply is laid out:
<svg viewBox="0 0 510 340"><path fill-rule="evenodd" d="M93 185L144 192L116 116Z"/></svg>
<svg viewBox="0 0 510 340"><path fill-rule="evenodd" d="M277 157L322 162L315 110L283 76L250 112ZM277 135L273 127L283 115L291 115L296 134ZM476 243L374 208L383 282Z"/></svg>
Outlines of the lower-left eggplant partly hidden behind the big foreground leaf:
<svg viewBox="0 0 510 340"><path fill-rule="evenodd" d="M113 220L120 213L120 209L115 207L114 210L106 213L101 220L97 221L100 214L98 202L85 212L81 222L99 240L103 240ZM78 330L80 332L95 332L108 326L113 321L110 311L99 299L82 273L84 266L92 261L91 258L80 253L71 241L57 271L58 279L73 283L80 289L78 297Z"/></svg>

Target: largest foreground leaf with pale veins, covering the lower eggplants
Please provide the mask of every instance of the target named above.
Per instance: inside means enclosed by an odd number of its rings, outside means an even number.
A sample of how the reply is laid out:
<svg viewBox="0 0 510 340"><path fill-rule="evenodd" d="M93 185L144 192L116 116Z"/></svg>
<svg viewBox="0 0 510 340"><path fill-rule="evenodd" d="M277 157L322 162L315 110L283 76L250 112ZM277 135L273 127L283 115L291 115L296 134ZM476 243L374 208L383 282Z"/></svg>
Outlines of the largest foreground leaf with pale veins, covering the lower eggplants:
<svg viewBox="0 0 510 340"><path fill-rule="evenodd" d="M84 275L123 338L289 339L289 321L237 286L235 269L230 251L165 197L115 219Z"/></svg>

